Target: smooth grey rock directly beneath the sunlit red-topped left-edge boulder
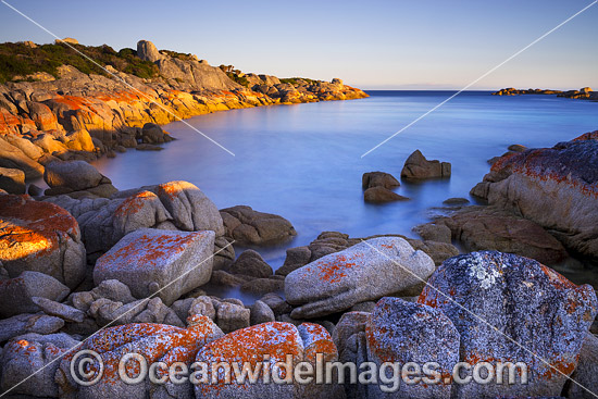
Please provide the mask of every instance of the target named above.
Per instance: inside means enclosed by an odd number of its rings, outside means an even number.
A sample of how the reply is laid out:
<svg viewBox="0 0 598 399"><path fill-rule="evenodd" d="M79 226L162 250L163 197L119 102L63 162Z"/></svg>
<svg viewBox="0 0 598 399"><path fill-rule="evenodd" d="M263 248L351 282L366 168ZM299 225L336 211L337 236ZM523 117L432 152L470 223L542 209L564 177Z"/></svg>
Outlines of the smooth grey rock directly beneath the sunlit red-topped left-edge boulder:
<svg viewBox="0 0 598 399"><path fill-rule="evenodd" d="M25 271L18 277L0 279L0 317L37 312L39 308L33 297L61 301L68 291L64 284L39 272Z"/></svg>

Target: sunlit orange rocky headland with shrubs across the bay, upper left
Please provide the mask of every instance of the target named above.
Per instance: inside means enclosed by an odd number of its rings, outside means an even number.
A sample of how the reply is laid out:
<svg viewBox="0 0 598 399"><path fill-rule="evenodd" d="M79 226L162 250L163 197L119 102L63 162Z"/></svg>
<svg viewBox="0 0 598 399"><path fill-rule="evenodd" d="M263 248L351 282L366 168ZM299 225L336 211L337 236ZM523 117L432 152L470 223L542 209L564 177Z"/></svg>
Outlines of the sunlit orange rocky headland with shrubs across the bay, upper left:
<svg viewBox="0 0 598 399"><path fill-rule="evenodd" d="M0 57L21 57L27 72L0 75L0 167L21 170L27 180L41 177L45 165L57 160L92 161L127 148L160 149L155 145L173 138L159 125L179 119L369 97L338 78L328 83L244 74L233 65L211 66L197 55L159 51L146 40L137 50L119 52L105 45L71 46L89 53L126 85L82 63L80 55L62 42L0 45ZM48 59L62 64L51 70Z"/></svg>

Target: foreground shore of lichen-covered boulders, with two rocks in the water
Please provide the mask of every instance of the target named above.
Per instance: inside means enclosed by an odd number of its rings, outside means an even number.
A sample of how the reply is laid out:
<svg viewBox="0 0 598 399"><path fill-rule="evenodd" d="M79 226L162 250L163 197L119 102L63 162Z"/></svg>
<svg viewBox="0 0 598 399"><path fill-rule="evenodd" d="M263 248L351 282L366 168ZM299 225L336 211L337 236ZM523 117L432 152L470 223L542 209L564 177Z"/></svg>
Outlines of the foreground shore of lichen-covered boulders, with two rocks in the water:
<svg viewBox="0 0 598 399"><path fill-rule="evenodd" d="M549 149L512 148L472 189L487 204L447 200L446 215L415 227L421 240L324 232L289 248L276 271L259 250L236 257L232 242L288 240L295 228L279 215L219 211L187 182L119 191L86 162L49 163L46 195L0 195L0 388L45 367L10 394L388 397L379 382L127 385L115 372L128 352L187 366L285 354L315 365L321 353L377 366L438 364L439 384L402 384L393 397L591 397L568 378L598 389L595 289L545 264L598 259L598 132ZM449 178L450 164L415 151L401 175ZM376 188L387 198L398 185L365 173L364 199ZM460 254L457 242L472 252ZM260 299L209 296L205 285ZM107 370L91 386L70 373L82 349ZM524 362L527 384L462 385L451 374L458 362L496 361Z"/></svg>

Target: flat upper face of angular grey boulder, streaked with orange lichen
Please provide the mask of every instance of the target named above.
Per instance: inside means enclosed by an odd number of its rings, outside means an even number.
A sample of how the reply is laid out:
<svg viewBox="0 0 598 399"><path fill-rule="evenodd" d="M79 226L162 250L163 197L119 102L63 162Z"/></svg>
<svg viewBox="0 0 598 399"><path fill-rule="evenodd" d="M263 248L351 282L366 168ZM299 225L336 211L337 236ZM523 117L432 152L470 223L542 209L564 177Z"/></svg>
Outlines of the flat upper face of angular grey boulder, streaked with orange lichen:
<svg viewBox="0 0 598 399"><path fill-rule="evenodd" d="M142 236L121 247L116 251L110 251L100 259L96 267L111 270L126 270L129 267L154 266L160 261L174 257L185 250L198 237L205 235L204 232L187 234L169 234Z"/></svg>

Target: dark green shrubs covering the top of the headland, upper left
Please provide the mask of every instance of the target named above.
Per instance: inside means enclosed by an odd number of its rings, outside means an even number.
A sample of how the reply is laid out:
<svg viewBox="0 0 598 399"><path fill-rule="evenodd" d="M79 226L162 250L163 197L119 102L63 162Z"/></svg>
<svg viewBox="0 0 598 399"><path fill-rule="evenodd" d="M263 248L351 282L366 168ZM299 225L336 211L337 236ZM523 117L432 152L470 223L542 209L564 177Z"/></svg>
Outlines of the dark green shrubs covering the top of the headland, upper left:
<svg viewBox="0 0 598 399"><path fill-rule="evenodd" d="M115 51L110 46L71 45L100 65L112 65L115 70L141 78L159 75L158 66L152 62L142 61L137 52L125 48ZM24 42L0 43L0 83L5 83L22 76L45 72L59 77L61 65L72 65L85 74L107 75L107 73L64 43L39 45L30 47Z"/></svg>

